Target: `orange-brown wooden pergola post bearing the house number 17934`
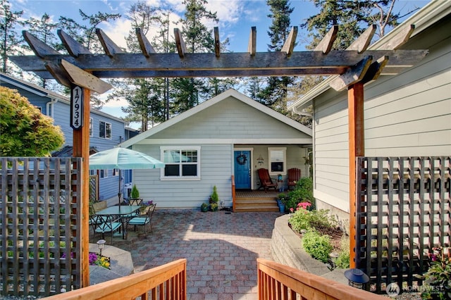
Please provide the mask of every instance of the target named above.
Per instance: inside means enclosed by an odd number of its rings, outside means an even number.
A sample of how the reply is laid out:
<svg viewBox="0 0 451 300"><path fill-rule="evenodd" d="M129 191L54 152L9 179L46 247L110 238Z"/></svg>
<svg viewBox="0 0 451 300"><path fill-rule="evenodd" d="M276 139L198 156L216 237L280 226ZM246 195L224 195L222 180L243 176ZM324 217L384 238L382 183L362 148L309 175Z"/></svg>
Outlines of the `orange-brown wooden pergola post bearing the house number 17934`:
<svg viewBox="0 0 451 300"><path fill-rule="evenodd" d="M71 99L74 89L80 87L73 85L71 87ZM83 110L82 113L82 127L78 130L73 130L73 156L81 157L82 160L82 175L81 175L81 287L89 286L89 101L91 98L91 91L89 89L81 88L83 94ZM72 122L72 120L71 120Z"/></svg>

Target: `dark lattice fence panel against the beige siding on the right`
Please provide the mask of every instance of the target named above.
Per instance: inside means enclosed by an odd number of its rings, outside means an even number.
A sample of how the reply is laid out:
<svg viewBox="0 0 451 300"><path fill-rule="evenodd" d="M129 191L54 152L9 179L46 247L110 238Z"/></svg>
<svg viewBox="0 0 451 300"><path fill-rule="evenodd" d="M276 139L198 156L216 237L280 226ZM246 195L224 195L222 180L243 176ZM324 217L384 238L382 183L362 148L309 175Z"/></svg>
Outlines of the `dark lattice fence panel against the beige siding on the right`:
<svg viewBox="0 0 451 300"><path fill-rule="evenodd" d="M356 267L376 292L391 282L412 287L433 247L450 246L450 160L357 158Z"/></svg>

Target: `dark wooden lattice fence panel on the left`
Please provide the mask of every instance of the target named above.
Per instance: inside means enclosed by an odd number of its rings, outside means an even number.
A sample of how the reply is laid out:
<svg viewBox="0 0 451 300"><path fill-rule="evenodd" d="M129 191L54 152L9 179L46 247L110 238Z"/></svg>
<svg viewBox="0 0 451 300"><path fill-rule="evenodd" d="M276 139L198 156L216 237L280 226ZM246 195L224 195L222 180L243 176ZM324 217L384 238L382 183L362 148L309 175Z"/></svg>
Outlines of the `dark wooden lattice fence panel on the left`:
<svg viewBox="0 0 451 300"><path fill-rule="evenodd" d="M1 294L80 287L82 158L0 158Z"/></svg>

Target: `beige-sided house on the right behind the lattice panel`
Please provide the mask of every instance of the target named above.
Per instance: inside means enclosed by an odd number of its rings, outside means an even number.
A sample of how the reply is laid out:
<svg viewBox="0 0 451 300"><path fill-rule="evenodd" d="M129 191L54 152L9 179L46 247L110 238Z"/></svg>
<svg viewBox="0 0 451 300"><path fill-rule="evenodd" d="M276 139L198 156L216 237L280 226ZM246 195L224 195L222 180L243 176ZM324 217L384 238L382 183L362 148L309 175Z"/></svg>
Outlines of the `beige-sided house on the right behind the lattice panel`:
<svg viewBox="0 0 451 300"><path fill-rule="evenodd" d="M398 75L364 87L365 156L450 156L451 1L431 1L369 49L396 39L403 26L415 30L400 49L429 54ZM314 197L319 208L349 218L350 174L347 91L329 87L328 77L289 109L313 105Z"/></svg>

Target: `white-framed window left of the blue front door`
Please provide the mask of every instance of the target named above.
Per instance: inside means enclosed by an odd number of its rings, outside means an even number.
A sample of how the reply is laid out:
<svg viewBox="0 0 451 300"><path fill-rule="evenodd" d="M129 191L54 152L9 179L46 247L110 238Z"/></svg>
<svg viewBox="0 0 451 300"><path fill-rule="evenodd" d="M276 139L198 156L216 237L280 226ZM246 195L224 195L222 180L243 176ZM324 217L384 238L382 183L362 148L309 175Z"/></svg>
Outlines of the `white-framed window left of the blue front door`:
<svg viewBox="0 0 451 300"><path fill-rule="evenodd" d="M200 147L161 147L161 178L173 180L200 179Z"/></svg>

